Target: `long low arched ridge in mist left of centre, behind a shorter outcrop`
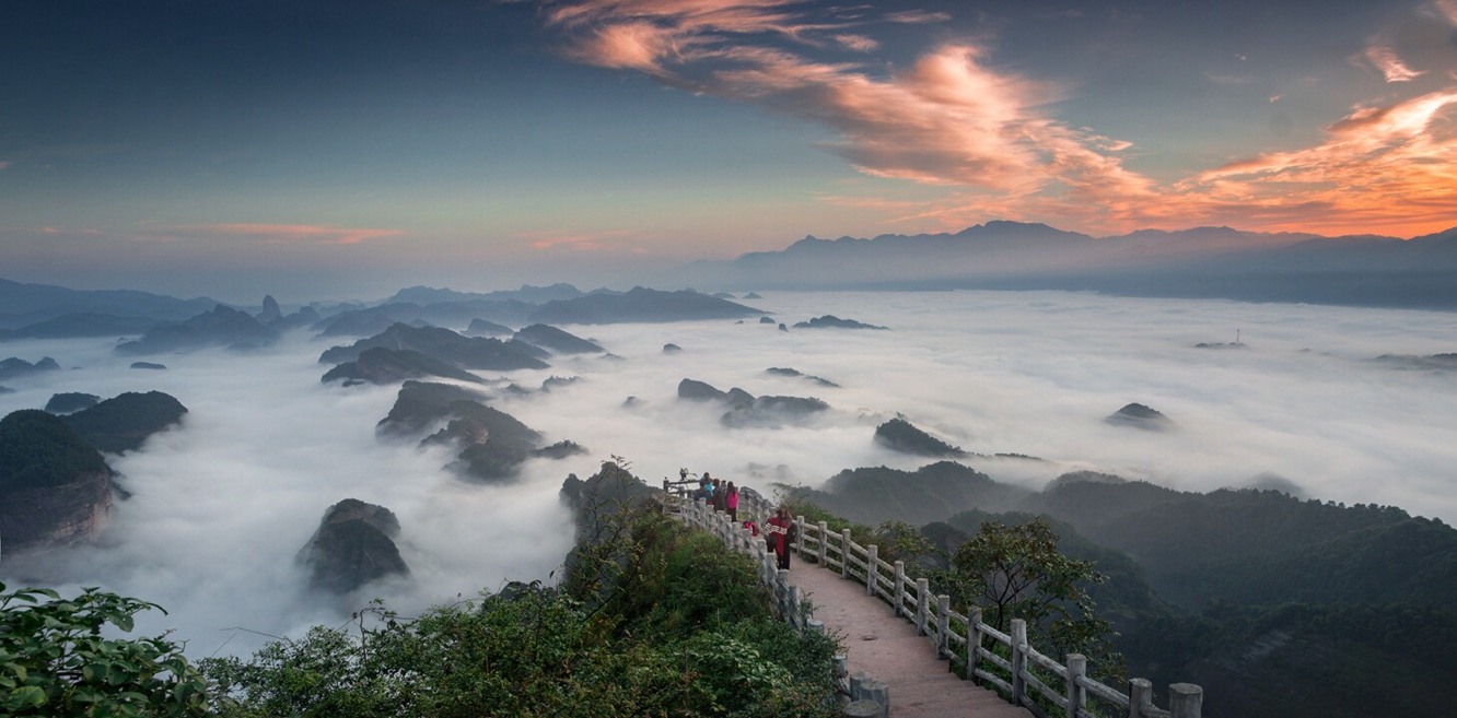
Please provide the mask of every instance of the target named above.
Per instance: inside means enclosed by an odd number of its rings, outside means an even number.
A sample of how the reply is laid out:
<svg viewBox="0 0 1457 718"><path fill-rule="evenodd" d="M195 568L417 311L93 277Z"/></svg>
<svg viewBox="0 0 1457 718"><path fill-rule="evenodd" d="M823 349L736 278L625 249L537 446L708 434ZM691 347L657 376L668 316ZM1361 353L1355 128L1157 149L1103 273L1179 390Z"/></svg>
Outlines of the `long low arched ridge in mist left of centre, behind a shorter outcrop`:
<svg viewBox="0 0 1457 718"><path fill-rule="evenodd" d="M511 371L546 368L546 352L519 341L462 336L439 326L393 323L388 329L348 347L334 347L319 355L319 364L358 361L369 350L414 351L460 368ZM444 376L444 374L440 374Z"/></svg>

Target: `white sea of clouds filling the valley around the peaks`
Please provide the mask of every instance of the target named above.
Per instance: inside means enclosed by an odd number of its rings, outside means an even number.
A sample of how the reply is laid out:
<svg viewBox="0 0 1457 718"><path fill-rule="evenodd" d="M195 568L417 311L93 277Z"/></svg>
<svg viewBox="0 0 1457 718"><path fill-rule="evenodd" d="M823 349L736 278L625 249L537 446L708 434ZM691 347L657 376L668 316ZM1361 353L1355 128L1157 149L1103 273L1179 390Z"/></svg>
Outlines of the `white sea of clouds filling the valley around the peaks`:
<svg viewBox="0 0 1457 718"><path fill-rule="evenodd" d="M898 412L967 451L1046 459L965 460L1029 488L1072 469L1196 491L1275 476L1320 500L1457 521L1457 373L1371 361L1457 351L1453 313L1062 291L769 293L745 303L790 325L832 313L890 329L779 332L755 319L564 325L621 360L558 357L549 370L481 376L527 387L580 377L491 405L590 453L529 462L506 486L452 475L444 447L376 437L396 387L319 383L328 367L318 355L337 342L302 332L249 354L156 358L166 371L127 368L133 358L114 354L109 339L0 344L0 355L51 355L66 367L9 382L17 392L0 396L0 414L44 406L55 392L152 389L189 409L181 427L109 457L131 497L118 501L98 545L4 556L0 580L103 585L165 606L170 615L147 616L140 631L175 628L189 654L248 652L264 635L342 625L372 597L411 615L507 580L551 581L573 540L561 482L594 473L610 454L650 484L688 468L772 494L774 482L814 486L842 469L927 463L871 440ZM1193 348L1233 342L1236 331L1246 350ZM669 342L683 351L664 354ZM721 406L676 398L685 377L817 396L832 411L778 428L727 428ZM1179 428L1103 422L1129 402ZM398 514L409 581L344 599L309 593L294 556L323 510L348 497Z"/></svg>

